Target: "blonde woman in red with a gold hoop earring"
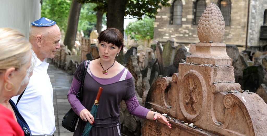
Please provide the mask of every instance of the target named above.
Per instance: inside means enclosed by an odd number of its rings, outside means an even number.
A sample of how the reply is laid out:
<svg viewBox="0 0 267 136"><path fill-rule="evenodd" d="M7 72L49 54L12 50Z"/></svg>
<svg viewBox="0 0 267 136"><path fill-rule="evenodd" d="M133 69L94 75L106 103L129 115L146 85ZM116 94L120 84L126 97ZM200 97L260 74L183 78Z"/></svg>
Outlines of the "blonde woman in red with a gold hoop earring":
<svg viewBox="0 0 267 136"><path fill-rule="evenodd" d="M9 100L18 95L30 67L31 47L22 33L0 28L0 135L24 135Z"/></svg>

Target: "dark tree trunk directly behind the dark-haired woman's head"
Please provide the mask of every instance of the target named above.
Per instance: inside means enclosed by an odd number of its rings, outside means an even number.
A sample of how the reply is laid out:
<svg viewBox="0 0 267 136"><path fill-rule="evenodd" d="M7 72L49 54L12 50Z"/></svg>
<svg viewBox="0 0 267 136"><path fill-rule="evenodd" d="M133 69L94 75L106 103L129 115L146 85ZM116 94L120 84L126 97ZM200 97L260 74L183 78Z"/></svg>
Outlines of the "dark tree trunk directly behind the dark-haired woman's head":
<svg viewBox="0 0 267 136"><path fill-rule="evenodd" d="M113 27L123 34L123 23L128 0L108 0L107 28ZM115 6L116 5L116 6ZM120 64L123 64L123 50L116 57Z"/></svg>

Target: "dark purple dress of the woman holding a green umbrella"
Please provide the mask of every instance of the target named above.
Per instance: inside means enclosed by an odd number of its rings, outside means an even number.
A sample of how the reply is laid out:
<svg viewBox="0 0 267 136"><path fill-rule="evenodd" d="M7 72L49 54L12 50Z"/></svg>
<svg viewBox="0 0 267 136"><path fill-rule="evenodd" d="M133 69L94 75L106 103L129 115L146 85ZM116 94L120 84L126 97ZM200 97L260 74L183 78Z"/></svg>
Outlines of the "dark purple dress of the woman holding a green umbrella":
<svg viewBox="0 0 267 136"><path fill-rule="evenodd" d="M83 64L81 63L74 73L74 77L78 81L82 79L82 67ZM99 107L90 135L120 136L120 102L135 96L133 79L129 78L111 84L100 84L87 73L84 79L83 106L89 111L93 106L99 87L102 87L103 91L99 99ZM80 101L78 99L71 101L73 110L79 115L81 110L78 110L77 107L81 105ZM80 136L83 133L85 123L85 121L79 119L77 129L74 131L74 136Z"/></svg>

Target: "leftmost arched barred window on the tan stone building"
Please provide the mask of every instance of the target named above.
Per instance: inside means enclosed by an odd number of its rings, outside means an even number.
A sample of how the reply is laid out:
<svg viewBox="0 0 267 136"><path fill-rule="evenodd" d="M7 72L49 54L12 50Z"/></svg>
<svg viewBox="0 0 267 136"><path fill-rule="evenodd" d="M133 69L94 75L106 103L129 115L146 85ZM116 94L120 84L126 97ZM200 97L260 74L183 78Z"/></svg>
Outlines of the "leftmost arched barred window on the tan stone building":
<svg viewBox="0 0 267 136"><path fill-rule="evenodd" d="M182 24L183 3L181 0L176 0L171 7L171 24Z"/></svg>

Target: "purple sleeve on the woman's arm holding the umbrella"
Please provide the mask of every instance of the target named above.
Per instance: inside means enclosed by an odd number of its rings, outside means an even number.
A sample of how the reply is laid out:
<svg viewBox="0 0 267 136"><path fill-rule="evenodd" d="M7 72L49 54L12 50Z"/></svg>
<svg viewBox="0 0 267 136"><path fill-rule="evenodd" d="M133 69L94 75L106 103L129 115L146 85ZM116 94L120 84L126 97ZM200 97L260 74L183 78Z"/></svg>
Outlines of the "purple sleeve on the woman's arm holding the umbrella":
<svg viewBox="0 0 267 136"><path fill-rule="evenodd" d="M68 101L73 109L73 111L79 116L81 110L85 107L81 104L80 100L76 97L77 92L79 92L81 87L81 81L78 81L76 77L73 77L69 92L68 92Z"/></svg>

